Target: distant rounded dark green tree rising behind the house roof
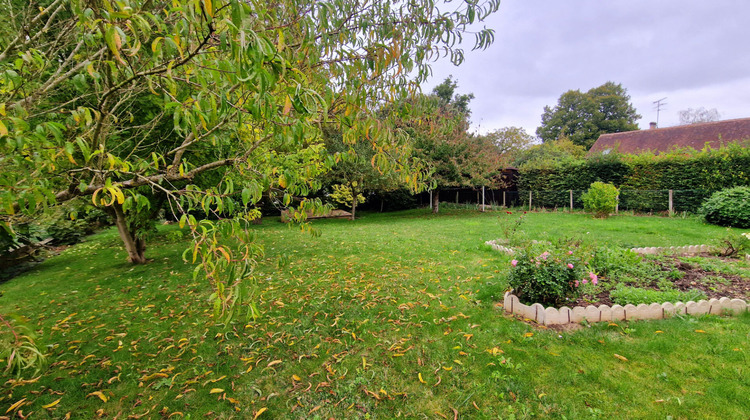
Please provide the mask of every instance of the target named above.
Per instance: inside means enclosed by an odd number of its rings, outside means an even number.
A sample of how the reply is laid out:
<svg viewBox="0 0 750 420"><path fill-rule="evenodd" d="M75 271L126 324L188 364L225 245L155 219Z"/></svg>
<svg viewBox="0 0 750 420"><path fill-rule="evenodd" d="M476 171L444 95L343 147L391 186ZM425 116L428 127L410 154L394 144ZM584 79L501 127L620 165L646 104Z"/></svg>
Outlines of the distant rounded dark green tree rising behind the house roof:
<svg viewBox="0 0 750 420"><path fill-rule="evenodd" d="M588 150L602 134L637 130L639 118L627 89L607 82L586 93L569 90L554 108L545 106L536 135L543 142L567 136Z"/></svg>

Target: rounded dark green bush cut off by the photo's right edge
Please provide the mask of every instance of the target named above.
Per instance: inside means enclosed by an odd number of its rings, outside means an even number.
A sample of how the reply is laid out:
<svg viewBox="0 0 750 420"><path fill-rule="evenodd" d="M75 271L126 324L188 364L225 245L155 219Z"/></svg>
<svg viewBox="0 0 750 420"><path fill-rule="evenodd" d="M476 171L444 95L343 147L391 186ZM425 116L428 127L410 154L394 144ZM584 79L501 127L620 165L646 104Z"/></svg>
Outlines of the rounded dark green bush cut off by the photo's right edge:
<svg viewBox="0 0 750 420"><path fill-rule="evenodd" d="M750 228L750 187L734 187L715 192L699 211L708 223Z"/></svg>

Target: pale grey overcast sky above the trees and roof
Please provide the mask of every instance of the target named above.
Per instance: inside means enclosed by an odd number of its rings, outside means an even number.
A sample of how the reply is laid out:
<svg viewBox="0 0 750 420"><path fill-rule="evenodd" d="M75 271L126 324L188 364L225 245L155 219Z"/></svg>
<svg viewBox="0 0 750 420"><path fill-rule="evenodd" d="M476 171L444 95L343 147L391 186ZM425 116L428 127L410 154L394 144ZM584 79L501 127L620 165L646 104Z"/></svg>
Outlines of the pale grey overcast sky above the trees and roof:
<svg viewBox="0 0 750 420"><path fill-rule="evenodd" d="M495 43L466 61L433 64L425 92L448 75L473 93L475 130L520 126L535 135L544 106L571 89L607 81L628 90L642 119L679 122L687 108L716 108L721 119L750 117L748 0L503 0L485 22ZM467 37L473 41L473 37Z"/></svg>

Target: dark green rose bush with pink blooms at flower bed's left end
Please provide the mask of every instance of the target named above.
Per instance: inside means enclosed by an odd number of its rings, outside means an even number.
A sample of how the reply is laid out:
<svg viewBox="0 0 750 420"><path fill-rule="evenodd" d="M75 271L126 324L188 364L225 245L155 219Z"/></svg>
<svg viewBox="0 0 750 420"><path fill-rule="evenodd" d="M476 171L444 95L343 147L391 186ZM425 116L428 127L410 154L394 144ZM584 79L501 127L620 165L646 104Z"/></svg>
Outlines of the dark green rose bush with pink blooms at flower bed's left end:
<svg viewBox="0 0 750 420"><path fill-rule="evenodd" d="M596 284L597 278L590 274ZM574 247L546 244L530 246L511 261L508 283L526 304L557 305L577 297L579 287L589 281L584 263Z"/></svg>

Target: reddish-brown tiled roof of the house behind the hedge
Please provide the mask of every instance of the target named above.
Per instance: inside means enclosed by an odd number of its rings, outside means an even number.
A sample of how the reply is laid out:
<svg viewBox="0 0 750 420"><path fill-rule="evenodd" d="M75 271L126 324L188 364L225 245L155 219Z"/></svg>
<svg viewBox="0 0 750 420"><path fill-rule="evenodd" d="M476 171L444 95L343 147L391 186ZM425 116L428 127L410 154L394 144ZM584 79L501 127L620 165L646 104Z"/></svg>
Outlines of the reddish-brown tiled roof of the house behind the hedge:
<svg viewBox="0 0 750 420"><path fill-rule="evenodd" d="M659 154L687 147L701 150L706 145L718 149L731 143L750 143L750 118L666 128L656 128L656 124L651 123L648 130L602 134L591 146L588 156L610 152Z"/></svg>

